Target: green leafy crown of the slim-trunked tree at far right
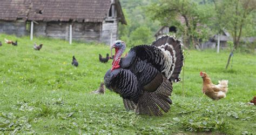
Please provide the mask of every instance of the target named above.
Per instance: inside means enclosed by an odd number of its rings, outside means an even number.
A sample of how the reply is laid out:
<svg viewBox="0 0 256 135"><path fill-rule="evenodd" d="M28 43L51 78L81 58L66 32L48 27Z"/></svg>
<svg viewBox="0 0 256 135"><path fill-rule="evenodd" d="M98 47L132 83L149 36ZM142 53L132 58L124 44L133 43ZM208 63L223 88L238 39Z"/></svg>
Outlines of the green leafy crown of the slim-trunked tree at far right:
<svg viewBox="0 0 256 135"><path fill-rule="evenodd" d="M227 30L233 37L234 49L237 48L242 37L255 36L255 9L251 0L214 0L215 29ZM213 28L214 29L214 28Z"/></svg>

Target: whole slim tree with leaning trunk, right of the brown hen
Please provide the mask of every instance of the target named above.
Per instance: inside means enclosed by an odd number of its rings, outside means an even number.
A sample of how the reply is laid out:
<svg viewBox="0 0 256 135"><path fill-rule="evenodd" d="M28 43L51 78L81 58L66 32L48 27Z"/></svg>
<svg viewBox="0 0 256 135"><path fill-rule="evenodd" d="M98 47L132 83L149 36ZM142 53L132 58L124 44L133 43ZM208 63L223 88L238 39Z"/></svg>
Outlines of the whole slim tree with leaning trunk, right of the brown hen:
<svg viewBox="0 0 256 135"><path fill-rule="evenodd" d="M229 0L219 1L219 9L225 9L224 12L216 12L215 17L219 18L219 24L231 33L233 38L233 49L231 49L228 56L226 69L230 63L235 49L238 48L243 30L253 23L253 16L255 15L256 1L255 0ZM217 6L214 1L215 6ZM254 16L255 17L255 16ZM255 20L254 20L255 21ZM245 35L245 34L244 34Z"/></svg>

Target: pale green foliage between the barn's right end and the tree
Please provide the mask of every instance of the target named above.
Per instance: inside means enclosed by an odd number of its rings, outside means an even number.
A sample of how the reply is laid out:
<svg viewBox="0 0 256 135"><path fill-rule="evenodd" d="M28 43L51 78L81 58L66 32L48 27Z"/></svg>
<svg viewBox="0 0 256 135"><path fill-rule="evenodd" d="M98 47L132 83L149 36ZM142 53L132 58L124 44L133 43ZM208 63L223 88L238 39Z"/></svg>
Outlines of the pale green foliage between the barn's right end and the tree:
<svg viewBox="0 0 256 135"><path fill-rule="evenodd" d="M122 0L120 1L122 4L122 8L124 10L125 19L127 21L127 25L121 25L119 24L119 37L121 40L124 40L124 42L128 46L135 46L139 44L146 44L151 43L148 42L149 40L144 39L138 39L134 36L132 36L132 33L134 35L134 31L140 28L139 33L141 35L146 35L148 37L143 38L150 38L153 39L154 32L156 32L159 29L159 22L154 21L152 22L145 14L145 6L152 3L154 0L151 1L126 1ZM143 29L147 28L147 29ZM145 31L144 31L145 30ZM137 31L138 32L138 31ZM135 34L137 33L135 32ZM142 36L140 36L142 37ZM130 39L132 38L132 39Z"/></svg>

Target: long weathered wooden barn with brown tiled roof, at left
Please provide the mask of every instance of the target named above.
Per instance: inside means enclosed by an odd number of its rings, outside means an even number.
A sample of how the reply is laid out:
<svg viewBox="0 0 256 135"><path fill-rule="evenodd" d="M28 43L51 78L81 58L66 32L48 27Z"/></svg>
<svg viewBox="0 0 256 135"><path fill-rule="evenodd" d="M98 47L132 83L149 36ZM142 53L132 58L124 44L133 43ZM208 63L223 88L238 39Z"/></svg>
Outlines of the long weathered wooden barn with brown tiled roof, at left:
<svg viewBox="0 0 256 135"><path fill-rule="evenodd" d="M111 44L118 38L118 23L126 24L119 0L3 0L1 10L0 32L30 34L31 39Z"/></svg>

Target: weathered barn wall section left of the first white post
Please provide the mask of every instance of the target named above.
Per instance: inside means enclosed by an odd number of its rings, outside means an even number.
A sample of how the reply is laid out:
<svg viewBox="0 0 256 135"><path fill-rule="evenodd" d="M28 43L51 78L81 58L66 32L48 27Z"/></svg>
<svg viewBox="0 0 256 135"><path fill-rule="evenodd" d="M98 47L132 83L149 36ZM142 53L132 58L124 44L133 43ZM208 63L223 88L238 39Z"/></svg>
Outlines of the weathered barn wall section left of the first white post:
<svg viewBox="0 0 256 135"><path fill-rule="evenodd" d="M0 21L0 33L8 35L24 36L28 34L26 31L26 22L24 21Z"/></svg>

